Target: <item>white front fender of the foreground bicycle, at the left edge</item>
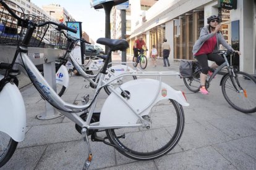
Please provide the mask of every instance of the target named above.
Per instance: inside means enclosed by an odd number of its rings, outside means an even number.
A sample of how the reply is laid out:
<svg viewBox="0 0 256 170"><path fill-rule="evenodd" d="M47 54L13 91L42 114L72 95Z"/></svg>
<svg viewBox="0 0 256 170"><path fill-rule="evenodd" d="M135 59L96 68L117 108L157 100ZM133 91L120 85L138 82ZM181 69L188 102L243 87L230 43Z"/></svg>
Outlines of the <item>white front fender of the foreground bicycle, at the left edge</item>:
<svg viewBox="0 0 256 170"><path fill-rule="evenodd" d="M25 138L26 111L22 95L15 84L7 83L0 92L0 131L16 142Z"/></svg>

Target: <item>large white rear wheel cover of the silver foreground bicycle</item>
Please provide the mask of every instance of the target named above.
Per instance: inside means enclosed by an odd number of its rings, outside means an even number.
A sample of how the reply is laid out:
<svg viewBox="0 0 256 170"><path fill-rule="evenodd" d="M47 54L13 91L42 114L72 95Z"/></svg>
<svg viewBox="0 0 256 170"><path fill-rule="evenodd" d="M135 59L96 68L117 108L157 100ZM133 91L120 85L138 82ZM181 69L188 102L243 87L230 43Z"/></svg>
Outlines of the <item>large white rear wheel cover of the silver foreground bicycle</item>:
<svg viewBox="0 0 256 170"><path fill-rule="evenodd" d="M159 81L155 79L135 79L121 85L123 91L130 93L130 99L125 100L140 116L148 115L153 105L163 99L173 99L183 106L189 106L181 91L176 91L163 82L160 92L158 88ZM121 89L117 88L116 91L121 94ZM152 103L155 98L156 100ZM136 124L137 120L138 116L132 109L112 92L101 110L100 126Z"/></svg>

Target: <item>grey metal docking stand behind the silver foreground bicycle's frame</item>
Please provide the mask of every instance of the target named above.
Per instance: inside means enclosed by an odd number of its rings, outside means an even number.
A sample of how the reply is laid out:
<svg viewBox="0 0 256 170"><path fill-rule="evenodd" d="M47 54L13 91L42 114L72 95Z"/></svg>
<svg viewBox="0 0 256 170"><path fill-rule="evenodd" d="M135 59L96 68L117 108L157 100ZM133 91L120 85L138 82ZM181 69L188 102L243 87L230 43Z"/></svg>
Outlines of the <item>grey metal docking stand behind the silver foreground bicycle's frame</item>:
<svg viewBox="0 0 256 170"><path fill-rule="evenodd" d="M16 46L0 46L0 61L9 63L12 61L17 47ZM56 71L55 61L62 57L65 51L61 49L46 49L38 47L28 47L28 57L35 65L43 64L44 77L49 85L56 91ZM38 119L54 119L62 116L52 105L45 102L46 111L36 116Z"/></svg>

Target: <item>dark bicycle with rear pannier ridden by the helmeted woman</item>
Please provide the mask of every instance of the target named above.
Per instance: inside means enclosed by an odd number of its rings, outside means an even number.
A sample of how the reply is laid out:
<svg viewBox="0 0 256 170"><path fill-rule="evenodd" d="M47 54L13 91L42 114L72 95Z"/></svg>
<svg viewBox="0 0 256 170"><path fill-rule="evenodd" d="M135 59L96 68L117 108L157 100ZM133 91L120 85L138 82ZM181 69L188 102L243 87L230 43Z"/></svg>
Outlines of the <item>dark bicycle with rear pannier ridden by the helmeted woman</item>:
<svg viewBox="0 0 256 170"><path fill-rule="evenodd" d="M220 82L224 98L234 109L242 113L254 113L256 111L256 79L247 73L234 69L232 60L229 64L227 56L234 55L235 52L220 51L219 54L224 57L225 62L211 76L208 75L205 87L208 89L213 78L220 71L226 70ZM199 63L194 62L192 77L183 78L187 89L192 92L199 91L200 73L201 67Z"/></svg>

